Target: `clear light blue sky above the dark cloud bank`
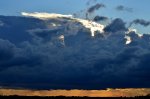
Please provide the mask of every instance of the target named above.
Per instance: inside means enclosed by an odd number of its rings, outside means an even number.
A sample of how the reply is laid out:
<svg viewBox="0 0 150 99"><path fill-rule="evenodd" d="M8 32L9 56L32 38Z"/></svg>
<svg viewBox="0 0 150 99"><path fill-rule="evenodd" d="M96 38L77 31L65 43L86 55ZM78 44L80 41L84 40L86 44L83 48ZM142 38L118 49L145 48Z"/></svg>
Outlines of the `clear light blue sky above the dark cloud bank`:
<svg viewBox="0 0 150 99"><path fill-rule="evenodd" d="M60 14L74 14L81 10L86 10L90 5L102 3L106 8L96 12L98 15L109 18L122 18L127 23L134 19L144 19L149 21L150 0L0 0L0 15L18 16L21 12L48 12ZM129 11L117 11L116 7L122 5ZM136 28L140 33L150 33L150 27L137 25Z"/></svg>

